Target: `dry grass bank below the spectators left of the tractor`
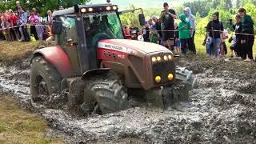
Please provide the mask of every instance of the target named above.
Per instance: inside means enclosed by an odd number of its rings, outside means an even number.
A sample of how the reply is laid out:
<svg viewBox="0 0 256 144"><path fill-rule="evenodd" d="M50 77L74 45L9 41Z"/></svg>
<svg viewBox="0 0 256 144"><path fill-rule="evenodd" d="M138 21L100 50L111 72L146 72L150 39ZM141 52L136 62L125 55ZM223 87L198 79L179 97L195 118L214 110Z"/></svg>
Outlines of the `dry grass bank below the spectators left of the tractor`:
<svg viewBox="0 0 256 144"><path fill-rule="evenodd" d="M7 66L28 58L39 46L52 45L50 42L6 42L0 41L0 63Z"/></svg>

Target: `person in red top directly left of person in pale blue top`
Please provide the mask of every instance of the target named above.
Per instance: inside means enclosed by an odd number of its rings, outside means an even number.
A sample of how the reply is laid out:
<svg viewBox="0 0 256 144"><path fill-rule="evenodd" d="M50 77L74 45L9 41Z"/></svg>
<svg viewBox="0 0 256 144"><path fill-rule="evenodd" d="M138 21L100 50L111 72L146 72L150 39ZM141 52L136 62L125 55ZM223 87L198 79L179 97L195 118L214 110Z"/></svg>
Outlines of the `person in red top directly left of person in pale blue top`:
<svg viewBox="0 0 256 144"><path fill-rule="evenodd" d="M18 35L18 17L16 14L14 14L13 10L9 10L10 13L10 35L13 39L19 40L19 35ZM15 27L17 26L17 27Z"/></svg>

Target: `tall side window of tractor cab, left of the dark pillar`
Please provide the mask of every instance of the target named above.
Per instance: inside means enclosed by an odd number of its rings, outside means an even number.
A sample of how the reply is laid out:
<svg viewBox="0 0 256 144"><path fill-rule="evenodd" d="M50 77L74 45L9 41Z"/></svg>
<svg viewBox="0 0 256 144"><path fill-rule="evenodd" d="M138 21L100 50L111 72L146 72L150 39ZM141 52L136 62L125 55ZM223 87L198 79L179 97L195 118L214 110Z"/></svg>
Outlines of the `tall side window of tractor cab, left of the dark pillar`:
<svg viewBox="0 0 256 144"><path fill-rule="evenodd" d="M59 17L62 22L62 34L58 36L58 43L70 58L75 75L81 74L78 58L78 36L75 19L72 17Z"/></svg>

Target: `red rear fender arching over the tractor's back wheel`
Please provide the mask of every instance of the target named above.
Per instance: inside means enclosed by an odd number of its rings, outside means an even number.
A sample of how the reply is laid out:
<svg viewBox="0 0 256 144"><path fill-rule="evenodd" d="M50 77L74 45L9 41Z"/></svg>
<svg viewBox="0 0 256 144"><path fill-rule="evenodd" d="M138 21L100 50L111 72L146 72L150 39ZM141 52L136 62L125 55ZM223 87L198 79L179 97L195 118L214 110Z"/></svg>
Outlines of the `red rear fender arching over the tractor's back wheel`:
<svg viewBox="0 0 256 144"><path fill-rule="evenodd" d="M46 61L58 70L59 74L62 75L62 78L70 78L73 76L74 73L70 58L60 46L52 46L36 50L30 60L30 63L38 56L46 58Z"/></svg>

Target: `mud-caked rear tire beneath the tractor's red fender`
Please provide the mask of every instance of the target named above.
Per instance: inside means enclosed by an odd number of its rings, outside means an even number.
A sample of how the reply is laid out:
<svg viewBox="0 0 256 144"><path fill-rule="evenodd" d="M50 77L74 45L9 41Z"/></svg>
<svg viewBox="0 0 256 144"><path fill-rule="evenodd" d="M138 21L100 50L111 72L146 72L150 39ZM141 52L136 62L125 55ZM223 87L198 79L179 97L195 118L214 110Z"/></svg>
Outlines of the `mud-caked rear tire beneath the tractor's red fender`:
<svg viewBox="0 0 256 144"><path fill-rule="evenodd" d="M39 95L60 92L62 76L45 58L34 58L30 70L30 91L34 102L42 101Z"/></svg>

